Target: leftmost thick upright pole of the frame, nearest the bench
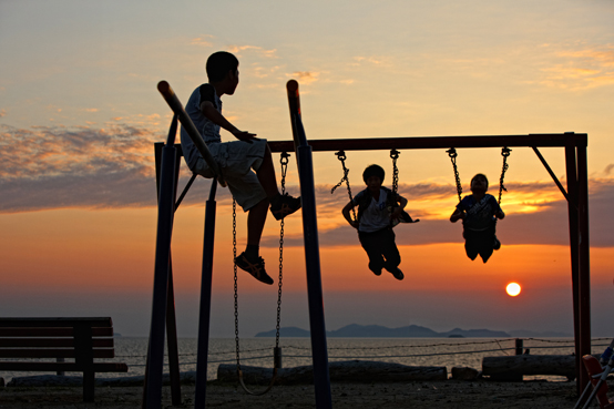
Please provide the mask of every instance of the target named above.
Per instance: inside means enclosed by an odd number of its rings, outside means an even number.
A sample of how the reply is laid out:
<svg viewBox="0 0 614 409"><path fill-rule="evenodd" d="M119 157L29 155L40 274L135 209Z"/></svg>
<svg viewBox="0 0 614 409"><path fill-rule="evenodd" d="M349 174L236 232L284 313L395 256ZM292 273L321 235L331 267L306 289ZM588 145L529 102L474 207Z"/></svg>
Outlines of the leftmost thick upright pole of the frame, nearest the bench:
<svg viewBox="0 0 614 409"><path fill-rule="evenodd" d="M160 171L160 197L157 201L157 233L152 299L152 319L143 407L158 409L162 403L162 375L164 370L164 333L168 294L168 267L171 262L171 237L175 211L175 137L177 116L173 116L166 145L162 149Z"/></svg>

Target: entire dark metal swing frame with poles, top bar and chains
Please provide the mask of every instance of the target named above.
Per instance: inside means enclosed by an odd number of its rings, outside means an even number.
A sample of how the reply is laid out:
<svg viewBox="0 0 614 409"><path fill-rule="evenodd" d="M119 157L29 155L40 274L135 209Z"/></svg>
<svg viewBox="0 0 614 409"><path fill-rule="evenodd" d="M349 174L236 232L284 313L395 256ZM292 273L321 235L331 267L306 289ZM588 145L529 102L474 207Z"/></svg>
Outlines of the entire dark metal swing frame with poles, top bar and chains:
<svg viewBox="0 0 614 409"><path fill-rule="evenodd" d="M204 144L198 131L183 109L174 91L168 83L161 81L158 91L174 112L166 143L156 143L156 181L158 186L158 217L156 234L156 255L154 267L154 287L152 300L152 319L150 327L150 344L147 349L147 365L145 370L145 386L143 390L143 408L160 408L162 399L162 377L164 362L164 338L168 339L168 361L171 372L171 392L173 405L181 405L181 387L178 379L178 354L176 346L175 307L173 294L172 263L171 263L171 236L174 212L187 188L194 182L191 178L178 201L176 186L178 182L181 145L175 145L177 121L194 141L202 156L215 175L211 184L209 197L205 208L205 232L203 242L203 265L201 282L201 307L198 317L198 350L196 364L195 408L205 408L206 397L206 367L208 352L213 249L215 233L215 194L217 183L225 185L223 174L208 149ZM309 327L311 334L311 351L314 365L314 388L316 407L328 409L332 407L330 395L330 378L328 371L328 351L326 346L326 328L324 319L324 297L321 287L321 274L319 262L319 243L316 217L315 180L313 168L313 152L337 152L344 168L344 177L338 184L346 182L351 200L349 178L345 165L345 151L375 151L390 150L393 160L393 182L398 187L398 170L396 161L398 150L441 149L446 151L453 165L454 178L459 200L462 187L458 173L456 149L501 147L503 155L503 168L500 177L499 202L501 202L504 174L508 170L506 159L510 147L531 147L542 162L548 173L567 201L571 273L574 311L574 339L576 359L576 388L580 391L589 384L590 376L581 364L581 357L591 352L591 313L590 313L590 263L589 263L589 176L586 162L587 135L584 133L560 134L529 134L529 135L485 135L485 136L419 136L419 137L377 137L377 139L345 139L345 140L313 140L307 141L303 127L298 83L294 80L287 83L288 104L290 111L290 124L293 141L269 141L268 145L274 153L282 153L283 182L285 183L285 167L287 166L287 152L295 152L299 176L301 206L303 206L303 233L305 243L305 263L307 276L307 295L309 309ZM539 147L563 147L565 157L566 184L565 190L556 178L550 165L539 151ZM284 157L286 155L286 157ZM285 165L284 165L285 161ZM336 186L336 187L338 187ZM335 187L335 188L336 188ZM239 382L252 395L262 395L270 389L275 381L278 365L280 365L279 342L279 310L282 294L282 266L283 266L283 235L282 221L280 256L279 256L279 290L278 316L274 375L268 388L263 392L252 392L244 385L241 376L241 362L238 355L238 313L235 309L235 335L237 344L237 372ZM236 238L234 239L236 245ZM236 267L235 267L235 307L236 295Z"/></svg>

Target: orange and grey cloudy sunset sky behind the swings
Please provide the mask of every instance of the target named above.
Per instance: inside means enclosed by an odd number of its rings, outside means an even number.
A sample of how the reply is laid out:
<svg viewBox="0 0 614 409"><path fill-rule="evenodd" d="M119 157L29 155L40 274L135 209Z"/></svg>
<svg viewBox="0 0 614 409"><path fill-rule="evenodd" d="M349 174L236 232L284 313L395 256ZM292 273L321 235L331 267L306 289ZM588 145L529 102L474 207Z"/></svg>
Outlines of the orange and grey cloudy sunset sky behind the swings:
<svg viewBox="0 0 614 409"><path fill-rule="evenodd" d="M156 231L153 143L171 110L206 82L206 58L234 52L225 95L237 127L291 139L285 84L300 84L308 139L589 135L593 336L612 336L614 300L614 1L0 2L0 315L111 316L145 336ZM233 136L223 132L223 139ZM562 149L543 149L565 185ZM288 191L298 194L295 155ZM275 161L278 161L276 155ZM444 150L401 151L400 193L419 224L396 228L406 279L367 268L340 209L334 152L314 153L327 329L348 324L573 333L566 203L531 149L513 149L488 264L464 255ZM348 152L352 192L387 151ZM500 149L459 150L463 190L478 172L498 193ZM279 171L277 168L278 176ZM180 188L190 172L182 166ZM176 213L181 336L197 331L204 202L198 178ZM212 336L232 337L232 197L217 195ZM239 252L246 215L238 215ZM279 224L260 253L277 283ZM286 221L282 326L308 329L300 214ZM505 286L522 286L518 297ZM241 333L275 328L277 286L239 273Z"/></svg>

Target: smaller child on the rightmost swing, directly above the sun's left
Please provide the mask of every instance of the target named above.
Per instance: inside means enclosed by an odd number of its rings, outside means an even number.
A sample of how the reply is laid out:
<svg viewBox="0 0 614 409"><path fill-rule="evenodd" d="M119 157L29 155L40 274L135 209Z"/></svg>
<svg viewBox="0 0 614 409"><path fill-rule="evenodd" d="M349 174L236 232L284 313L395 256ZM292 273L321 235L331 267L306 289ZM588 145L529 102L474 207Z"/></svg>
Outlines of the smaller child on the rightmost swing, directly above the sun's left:
<svg viewBox="0 0 614 409"><path fill-rule="evenodd" d="M501 242L495 236L495 217L505 217L494 196L487 193L488 188L487 176L478 173L471 180L472 194L464 196L450 216L452 223L462 218L462 236L467 256L474 260L479 254L484 263L488 262L493 250L501 247Z"/></svg>

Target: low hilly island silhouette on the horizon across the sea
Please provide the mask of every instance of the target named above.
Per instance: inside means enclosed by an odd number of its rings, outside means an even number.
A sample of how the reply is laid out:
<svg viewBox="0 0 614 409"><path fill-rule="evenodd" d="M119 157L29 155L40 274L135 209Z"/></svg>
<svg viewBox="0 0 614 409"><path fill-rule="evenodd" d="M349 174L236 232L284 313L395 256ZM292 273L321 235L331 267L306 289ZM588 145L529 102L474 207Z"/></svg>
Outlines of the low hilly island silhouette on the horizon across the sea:
<svg viewBox="0 0 614 409"><path fill-rule="evenodd" d="M256 334L256 337L275 337L276 330ZM280 337L304 338L309 331L297 327L279 328ZM490 329L454 328L446 333L437 333L419 325L409 325L400 328L388 328L380 325L350 324L342 328L326 331L329 338L512 338L512 337L571 337L563 333L534 333L528 330L493 331Z"/></svg>

